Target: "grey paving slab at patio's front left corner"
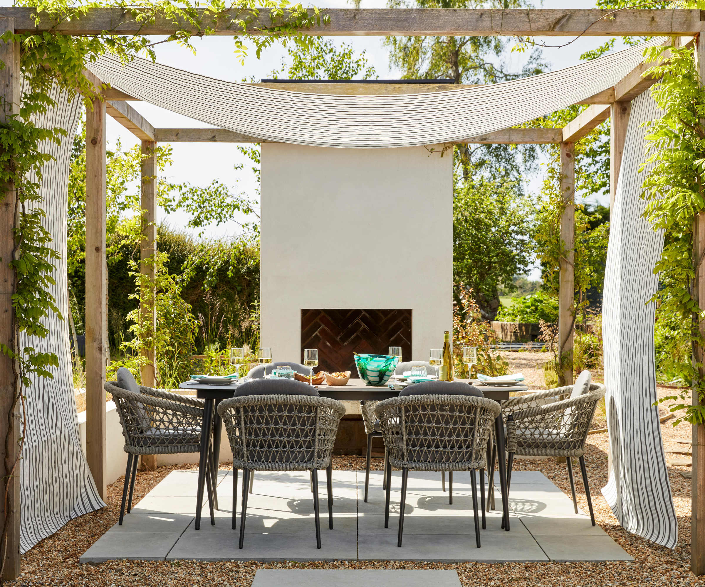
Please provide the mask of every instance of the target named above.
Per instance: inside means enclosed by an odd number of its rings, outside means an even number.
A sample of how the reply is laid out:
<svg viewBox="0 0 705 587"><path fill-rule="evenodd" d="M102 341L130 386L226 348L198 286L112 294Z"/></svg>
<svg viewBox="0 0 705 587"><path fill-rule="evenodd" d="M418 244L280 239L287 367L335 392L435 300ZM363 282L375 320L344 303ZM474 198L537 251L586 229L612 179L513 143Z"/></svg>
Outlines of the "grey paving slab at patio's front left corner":
<svg viewBox="0 0 705 587"><path fill-rule="evenodd" d="M83 553L78 562L164 560L180 536L180 533L106 533Z"/></svg>

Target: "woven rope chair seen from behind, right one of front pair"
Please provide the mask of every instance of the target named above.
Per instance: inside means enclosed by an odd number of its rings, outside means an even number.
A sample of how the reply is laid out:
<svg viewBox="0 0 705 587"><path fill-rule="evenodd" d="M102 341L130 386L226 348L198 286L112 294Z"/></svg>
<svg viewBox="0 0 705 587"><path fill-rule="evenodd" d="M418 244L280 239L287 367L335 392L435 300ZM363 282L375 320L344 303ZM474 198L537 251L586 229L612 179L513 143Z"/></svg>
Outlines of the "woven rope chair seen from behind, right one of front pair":
<svg viewBox="0 0 705 587"><path fill-rule="evenodd" d="M409 469L415 471L470 471L475 537L480 548L477 478L480 472L482 528L486 446L501 408L493 400L468 395L406 395L376 404L384 445L389 452L384 527L389 527L391 468L402 470L397 546L404 531L404 509Z"/></svg>

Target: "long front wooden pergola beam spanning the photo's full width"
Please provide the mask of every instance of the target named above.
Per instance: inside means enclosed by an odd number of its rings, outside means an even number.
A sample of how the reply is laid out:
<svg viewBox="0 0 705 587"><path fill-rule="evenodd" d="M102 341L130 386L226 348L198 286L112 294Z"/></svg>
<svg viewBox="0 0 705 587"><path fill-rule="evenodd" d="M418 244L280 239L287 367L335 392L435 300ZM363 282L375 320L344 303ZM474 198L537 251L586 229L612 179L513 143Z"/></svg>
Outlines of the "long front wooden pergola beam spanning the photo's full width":
<svg viewBox="0 0 705 587"><path fill-rule="evenodd" d="M204 32L212 27L215 35L240 34L235 23L243 11L226 11L218 20L198 11L200 21L176 22L157 16L138 23L124 8L91 8L82 16L52 20L41 14L35 22L35 8L0 8L0 16L14 17L18 32L58 31L65 35L171 35L175 30ZM309 13L313 13L309 9ZM591 9L491 9L491 8L332 8L323 11L331 20L327 25L304 29L309 35L401 36L474 36L520 37L601 37L605 35L696 35L701 28L699 10L591 10ZM247 30L265 34L273 24L270 11L261 9Z"/></svg>

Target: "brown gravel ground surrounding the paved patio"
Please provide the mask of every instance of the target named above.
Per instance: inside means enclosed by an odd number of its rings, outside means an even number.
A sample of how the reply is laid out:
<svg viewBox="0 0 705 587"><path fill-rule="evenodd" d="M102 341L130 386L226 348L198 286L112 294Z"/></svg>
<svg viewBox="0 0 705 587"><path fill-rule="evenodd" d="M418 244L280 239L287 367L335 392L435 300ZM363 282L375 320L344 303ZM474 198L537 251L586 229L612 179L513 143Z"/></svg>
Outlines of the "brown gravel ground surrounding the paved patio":
<svg viewBox="0 0 705 587"><path fill-rule="evenodd" d="M673 390L659 390L660 395L669 395ZM687 440L689 426L670 424L661 426L664 447L670 450L687 450L688 445L678 440ZM690 481L680 475L689 467L669 467L673 500L678 514L680 533L678 546L668 550L647 540L627 533L617 523L611 510L602 498L600 488L607 482L606 434L589 436L587 469L592 488L593 504L597 523L622 548L634 557L634 562L612 563L508 563L463 564L407 563L407 562L333 562L263 564L258 562L140 562L115 561L102 564L78 564L78 557L92 545L102 533L116 523L122 481L108 488L108 507L74 519L54 536L42 540L23 557L23 575L12 585L56 585L56 586L189 586L229 585L249 587L257 569L455 569L464 587L515 586L565 587L565 586L617 586L617 585L705 585L704 578L696 578L689 571L690 556ZM381 459L373 460L373 468L381 469ZM364 469L361 457L336 457L335 469ZM135 486L135 502L174 469L190 469L193 466L163 466L157 471L140 471ZM228 469L227 464L221 466ZM554 459L515 461L515 470L539 470L570 495L568 472L565 464L556 464ZM582 483L577 482L577 499L587 512Z"/></svg>

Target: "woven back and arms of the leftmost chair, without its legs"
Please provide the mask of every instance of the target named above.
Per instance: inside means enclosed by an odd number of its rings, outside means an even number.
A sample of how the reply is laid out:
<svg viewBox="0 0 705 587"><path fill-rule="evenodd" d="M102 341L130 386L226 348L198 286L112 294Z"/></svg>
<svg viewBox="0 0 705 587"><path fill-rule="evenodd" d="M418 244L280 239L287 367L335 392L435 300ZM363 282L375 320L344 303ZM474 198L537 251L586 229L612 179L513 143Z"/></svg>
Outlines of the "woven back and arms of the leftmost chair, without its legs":
<svg viewBox="0 0 705 587"><path fill-rule="evenodd" d="M115 381L106 382L104 388L113 396L128 447L179 452L178 447L200 444L202 408L142 393L149 388L141 386L140 393L120 388Z"/></svg>

